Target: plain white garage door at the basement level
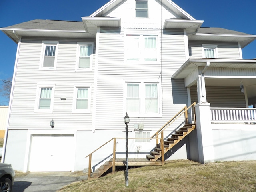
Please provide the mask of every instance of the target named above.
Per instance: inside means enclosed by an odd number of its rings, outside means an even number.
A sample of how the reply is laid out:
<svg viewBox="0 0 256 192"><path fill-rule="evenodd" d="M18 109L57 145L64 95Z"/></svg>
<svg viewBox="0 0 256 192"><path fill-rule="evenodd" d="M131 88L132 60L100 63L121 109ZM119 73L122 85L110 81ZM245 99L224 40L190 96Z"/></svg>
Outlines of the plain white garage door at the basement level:
<svg viewBox="0 0 256 192"><path fill-rule="evenodd" d="M73 134L32 134L28 171L71 171Z"/></svg>

